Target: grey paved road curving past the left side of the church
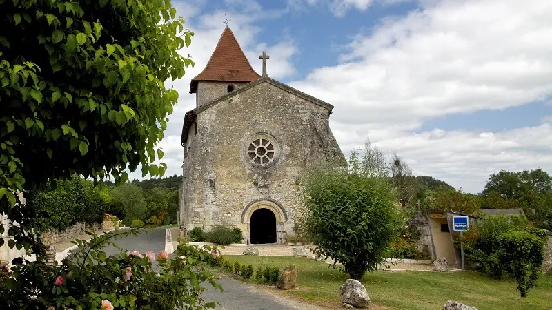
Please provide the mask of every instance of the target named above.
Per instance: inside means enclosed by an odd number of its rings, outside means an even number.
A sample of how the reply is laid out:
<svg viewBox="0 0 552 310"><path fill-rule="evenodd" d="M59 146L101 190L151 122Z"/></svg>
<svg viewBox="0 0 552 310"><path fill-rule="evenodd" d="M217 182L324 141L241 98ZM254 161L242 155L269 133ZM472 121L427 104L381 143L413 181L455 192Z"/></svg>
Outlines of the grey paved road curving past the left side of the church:
<svg viewBox="0 0 552 310"><path fill-rule="evenodd" d="M138 236L128 236L118 238L115 243L125 251L154 251L158 253L165 249L165 229L157 228L154 231L148 229ZM115 247L106 247L106 254L116 254L119 249ZM224 277L219 281L224 292L215 290L210 284L206 283L202 297L206 302L219 302L217 309L221 310L291 310L291 309L309 309L309 305L300 304L293 300L285 300L264 291L258 291L252 285Z"/></svg>

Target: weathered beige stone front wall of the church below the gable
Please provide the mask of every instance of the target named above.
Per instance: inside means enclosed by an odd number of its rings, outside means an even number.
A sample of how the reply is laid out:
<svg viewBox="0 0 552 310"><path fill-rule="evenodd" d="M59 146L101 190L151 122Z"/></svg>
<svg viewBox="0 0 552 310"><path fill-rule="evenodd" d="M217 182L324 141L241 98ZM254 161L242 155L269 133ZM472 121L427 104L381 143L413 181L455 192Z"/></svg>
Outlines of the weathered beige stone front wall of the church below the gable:
<svg viewBox="0 0 552 310"><path fill-rule="evenodd" d="M186 229L235 225L247 238L248 212L255 203L267 202L281 219L278 238L292 233L297 176L320 159L343 158L329 128L329 114L327 105L264 82L210 103L197 114L197 134L196 128L190 130L186 143L186 205L181 215ZM246 158L255 134L270 137L278 149L266 165L253 165Z"/></svg>

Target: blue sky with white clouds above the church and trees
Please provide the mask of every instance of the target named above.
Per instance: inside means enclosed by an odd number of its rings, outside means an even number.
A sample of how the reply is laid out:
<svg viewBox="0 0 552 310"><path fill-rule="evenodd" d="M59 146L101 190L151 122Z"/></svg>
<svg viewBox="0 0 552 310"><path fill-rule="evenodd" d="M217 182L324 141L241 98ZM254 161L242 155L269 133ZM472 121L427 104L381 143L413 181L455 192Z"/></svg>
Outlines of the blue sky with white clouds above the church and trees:
<svg viewBox="0 0 552 310"><path fill-rule="evenodd" d="M257 72L334 105L345 156L369 138L415 175L478 193L489 174L552 173L552 1L172 0L195 33L160 147L181 174L190 79L228 26ZM130 178L141 178L139 169Z"/></svg>

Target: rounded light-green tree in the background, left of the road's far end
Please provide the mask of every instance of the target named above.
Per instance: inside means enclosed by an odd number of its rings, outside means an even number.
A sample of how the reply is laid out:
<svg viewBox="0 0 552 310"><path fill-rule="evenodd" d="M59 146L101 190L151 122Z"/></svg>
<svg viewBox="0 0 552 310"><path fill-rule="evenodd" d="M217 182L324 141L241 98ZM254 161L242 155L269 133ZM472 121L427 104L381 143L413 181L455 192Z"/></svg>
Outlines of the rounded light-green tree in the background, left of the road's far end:
<svg viewBox="0 0 552 310"><path fill-rule="evenodd" d="M123 206L126 213L123 218L124 225L130 226L135 218L144 220L148 204L140 187L132 183L123 183L112 190L111 199L112 204Z"/></svg>

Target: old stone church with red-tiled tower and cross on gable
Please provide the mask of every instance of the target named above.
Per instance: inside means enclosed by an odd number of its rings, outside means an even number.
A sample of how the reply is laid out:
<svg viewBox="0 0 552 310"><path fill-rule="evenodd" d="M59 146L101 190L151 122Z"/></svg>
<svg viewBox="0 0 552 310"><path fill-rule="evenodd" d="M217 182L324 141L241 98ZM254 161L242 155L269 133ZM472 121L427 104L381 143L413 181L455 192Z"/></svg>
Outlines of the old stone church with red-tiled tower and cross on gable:
<svg viewBox="0 0 552 310"><path fill-rule="evenodd" d="M329 127L333 105L270 79L269 56L259 59L262 76L226 28L190 83L196 107L181 136L184 231L230 225L248 244L283 243L293 234L297 176L320 159L344 159Z"/></svg>

